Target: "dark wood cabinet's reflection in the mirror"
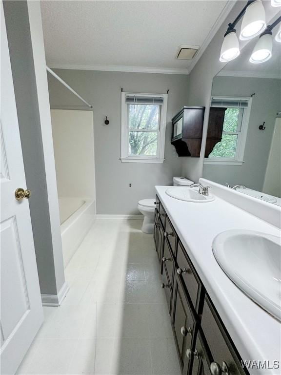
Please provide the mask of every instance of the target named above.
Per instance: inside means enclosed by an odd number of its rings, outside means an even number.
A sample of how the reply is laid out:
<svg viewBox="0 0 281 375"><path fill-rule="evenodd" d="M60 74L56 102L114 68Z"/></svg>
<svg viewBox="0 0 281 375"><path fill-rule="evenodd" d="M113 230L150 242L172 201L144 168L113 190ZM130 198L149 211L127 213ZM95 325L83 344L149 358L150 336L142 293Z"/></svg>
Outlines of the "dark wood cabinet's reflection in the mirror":
<svg viewBox="0 0 281 375"><path fill-rule="evenodd" d="M213 151L217 143L221 142L224 114L227 108L211 107L208 121L208 131L205 148L205 158Z"/></svg>

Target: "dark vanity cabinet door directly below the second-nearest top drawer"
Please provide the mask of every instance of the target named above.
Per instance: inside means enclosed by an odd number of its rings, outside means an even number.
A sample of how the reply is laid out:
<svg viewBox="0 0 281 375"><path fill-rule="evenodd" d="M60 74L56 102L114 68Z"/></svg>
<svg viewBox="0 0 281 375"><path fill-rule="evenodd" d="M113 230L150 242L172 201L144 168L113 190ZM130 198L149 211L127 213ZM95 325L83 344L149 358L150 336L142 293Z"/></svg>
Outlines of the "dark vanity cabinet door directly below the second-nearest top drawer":
<svg viewBox="0 0 281 375"><path fill-rule="evenodd" d="M186 350L192 346L192 338L196 334L196 323L187 303L185 292L178 275L174 279L174 304L172 314L172 327L176 340L181 369L185 362Z"/></svg>

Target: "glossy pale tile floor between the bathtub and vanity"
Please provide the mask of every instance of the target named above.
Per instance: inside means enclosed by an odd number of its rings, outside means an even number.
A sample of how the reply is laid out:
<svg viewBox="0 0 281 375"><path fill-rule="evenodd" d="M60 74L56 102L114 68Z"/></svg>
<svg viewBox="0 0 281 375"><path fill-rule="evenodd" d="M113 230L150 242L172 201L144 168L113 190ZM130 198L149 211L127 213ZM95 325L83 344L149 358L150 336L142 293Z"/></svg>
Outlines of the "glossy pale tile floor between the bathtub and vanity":
<svg viewBox="0 0 281 375"><path fill-rule="evenodd" d="M70 286L18 374L180 375L152 235L97 219L65 270Z"/></svg>

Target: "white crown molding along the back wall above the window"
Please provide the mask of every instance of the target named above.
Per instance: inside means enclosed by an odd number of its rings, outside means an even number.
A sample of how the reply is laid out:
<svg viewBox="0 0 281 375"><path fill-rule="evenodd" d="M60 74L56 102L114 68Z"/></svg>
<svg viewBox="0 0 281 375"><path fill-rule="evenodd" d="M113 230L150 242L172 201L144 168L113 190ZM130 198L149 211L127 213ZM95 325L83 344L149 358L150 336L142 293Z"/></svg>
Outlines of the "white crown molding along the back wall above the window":
<svg viewBox="0 0 281 375"><path fill-rule="evenodd" d="M126 66L126 65L76 65L76 64L52 64L51 69L74 69L74 70L98 70L107 72L130 72L130 73L159 73L159 74L189 74L188 69L178 68L156 68L149 66Z"/></svg>

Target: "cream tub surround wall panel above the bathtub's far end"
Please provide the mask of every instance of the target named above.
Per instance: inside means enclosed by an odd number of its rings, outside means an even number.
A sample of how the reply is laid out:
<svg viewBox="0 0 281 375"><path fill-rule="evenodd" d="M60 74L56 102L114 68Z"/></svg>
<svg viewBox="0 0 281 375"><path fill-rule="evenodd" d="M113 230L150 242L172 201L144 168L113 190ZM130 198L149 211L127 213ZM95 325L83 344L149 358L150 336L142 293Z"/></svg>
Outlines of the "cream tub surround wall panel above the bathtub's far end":
<svg viewBox="0 0 281 375"><path fill-rule="evenodd" d="M51 110L59 197L95 200L92 111Z"/></svg>

